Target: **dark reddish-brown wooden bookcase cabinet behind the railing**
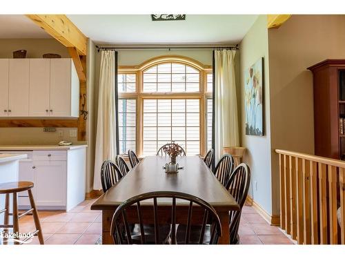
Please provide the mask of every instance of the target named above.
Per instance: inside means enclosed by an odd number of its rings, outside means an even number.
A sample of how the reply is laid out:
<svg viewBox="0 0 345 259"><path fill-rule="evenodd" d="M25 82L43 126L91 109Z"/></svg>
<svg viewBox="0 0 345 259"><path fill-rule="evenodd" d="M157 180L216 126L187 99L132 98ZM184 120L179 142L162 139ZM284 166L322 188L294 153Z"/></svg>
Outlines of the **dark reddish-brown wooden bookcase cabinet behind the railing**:
<svg viewBox="0 0 345 259"><path fill-rule="evenodd" d="M345 160L345 59L326 59L313 72L315 155Z"/></svg>

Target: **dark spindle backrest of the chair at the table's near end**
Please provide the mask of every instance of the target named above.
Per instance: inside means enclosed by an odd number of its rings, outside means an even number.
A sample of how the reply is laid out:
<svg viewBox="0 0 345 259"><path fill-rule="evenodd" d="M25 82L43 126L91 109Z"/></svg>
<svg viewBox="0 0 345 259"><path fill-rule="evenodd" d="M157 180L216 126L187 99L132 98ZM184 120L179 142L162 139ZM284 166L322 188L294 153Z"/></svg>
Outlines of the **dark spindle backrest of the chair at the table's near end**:
<svg viewBox="0 0 345 259"><path fill-rule="evenodd" d="M199 236L199 244L203 244L204 234L206 229L206 224L210 224L210 244L217 244L219 236L221 236L221 224L217 212L213 209L210 204L197 198L193 195L187 193L179 193L179 192L171 192L171 191L155 191L150 193L143 193L141 195L137 195L132 197L126 202L122 203L117 210L115 211L114 215L112 216L112 222L110 227L110 234L115 242L115 244L132 244L132 237L130 233L130 224L128 224L128 211L132 211L130 213L131 218L134 217L134 212L137 211L137 222L139 222L140 226L140 239L141 244L146 244L146 236L144 232L144 224L148 224L145 222L146 218L142 216L142 207L141 202L147 202L147 200L153 199L153 206L152 206L152 217L151 220L154 221L154 228L155 228L155 244L159 244L159 206L157 204L158 198L164 198L164 210L166 210L167 199L171 198L171 244L176 244L176 230L177 230L177 223L176 223L176 215L177 215L177 206L176 200L178 199L179 202L184 200L189 203L188 213L179 213L181 215L186 215L186 238L185 244L189 243L190 240L190 226L194 222L199 221L199 226L201 227L200 236ZM187 204L188 204L187 203ZM132 205L135 206L132 206ZM146 209L147 209L146 205ZM131 207L131 208L130 208ZM184 208L183 208L184 209ZM200 213L193 213L193 209L201 210ZM149 213L149 211L146 211ZM193 218L192 218L193 217ZM165 218L165 217L164 217ZM164 220L164 219L163 219ZM167 224L168 222L164 222Z"/></svg>

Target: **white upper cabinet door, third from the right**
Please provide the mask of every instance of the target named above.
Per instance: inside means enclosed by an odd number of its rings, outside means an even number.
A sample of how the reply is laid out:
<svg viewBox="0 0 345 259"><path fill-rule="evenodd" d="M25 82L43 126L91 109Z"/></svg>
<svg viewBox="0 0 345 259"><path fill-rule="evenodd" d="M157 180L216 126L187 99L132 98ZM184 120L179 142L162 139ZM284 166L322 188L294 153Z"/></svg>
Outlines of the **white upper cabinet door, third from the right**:
<svg viewBox="0 0 345 259"><path fill-rule="evenodd" d="M29 59L10 59L8 116L29 115Z"/></svg>

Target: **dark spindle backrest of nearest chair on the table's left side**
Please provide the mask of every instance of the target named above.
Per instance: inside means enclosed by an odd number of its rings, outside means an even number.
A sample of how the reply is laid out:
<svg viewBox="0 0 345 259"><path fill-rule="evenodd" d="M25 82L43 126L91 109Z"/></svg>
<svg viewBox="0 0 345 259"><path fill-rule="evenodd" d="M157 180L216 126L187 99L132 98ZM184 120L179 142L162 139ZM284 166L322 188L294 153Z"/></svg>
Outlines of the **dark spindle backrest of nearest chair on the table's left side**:
<svg viewBox="0 0 345 259"><path fill-rule="evenodd" d="M121 180L122 175L119 167L110 160L103 162L101 166L101 184L103 192Z"/></svg>

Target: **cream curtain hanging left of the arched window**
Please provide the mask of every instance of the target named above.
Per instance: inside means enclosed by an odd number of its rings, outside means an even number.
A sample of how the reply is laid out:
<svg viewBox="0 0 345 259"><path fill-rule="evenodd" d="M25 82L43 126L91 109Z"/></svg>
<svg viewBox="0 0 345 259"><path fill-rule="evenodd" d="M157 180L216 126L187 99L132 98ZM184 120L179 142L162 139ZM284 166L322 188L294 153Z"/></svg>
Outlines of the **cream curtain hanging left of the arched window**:
<svg viewBox="0 0 345 259"><path fill-rule="evenodd" d="M97 135L95 150L95 176L93 189L100 190L101 165L104 160L116 157L116 106L115 106L115 51L101 51Z"/></svg>

